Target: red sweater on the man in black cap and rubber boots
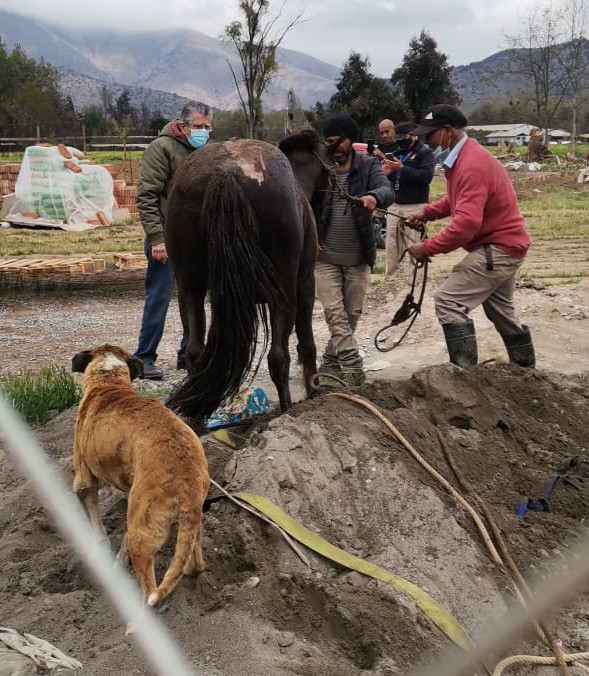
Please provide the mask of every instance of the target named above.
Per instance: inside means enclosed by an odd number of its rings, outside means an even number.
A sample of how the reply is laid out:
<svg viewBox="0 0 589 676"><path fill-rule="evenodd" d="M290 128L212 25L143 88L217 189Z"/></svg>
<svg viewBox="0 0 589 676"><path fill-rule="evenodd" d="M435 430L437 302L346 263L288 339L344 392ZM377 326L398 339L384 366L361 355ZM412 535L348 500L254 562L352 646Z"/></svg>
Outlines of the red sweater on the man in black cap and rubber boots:
<svg viewBox="0 0 589 676"><path fill-rule="evenodd" d="M446 169L447 195L425 209L428 221L452 215L450 223L423 242L428 256L460 247L472 251L494 244L514 258L524 258L530 237L507 171L477 141L469 138L454 166Z"/></svg>

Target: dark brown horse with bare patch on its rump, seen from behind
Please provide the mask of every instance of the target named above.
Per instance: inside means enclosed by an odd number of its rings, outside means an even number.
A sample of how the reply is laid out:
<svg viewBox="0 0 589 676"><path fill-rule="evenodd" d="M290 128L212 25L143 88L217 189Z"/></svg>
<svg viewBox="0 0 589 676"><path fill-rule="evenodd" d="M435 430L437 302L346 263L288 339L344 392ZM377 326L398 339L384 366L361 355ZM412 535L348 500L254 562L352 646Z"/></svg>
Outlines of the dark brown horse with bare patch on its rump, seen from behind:
<svg viewBox="0 0 589 676"><path fill-rule="evenodd" d="M176 172L165 242L188 335L188 374L166 403L197 424L255 375L259 328L263 351L271 336L268 368L280 409L292 406L293 326L307 396L313 393L315 216L329 182L324 155L317 133L303 130L280 147L252 139L212 142Z"/></svg>

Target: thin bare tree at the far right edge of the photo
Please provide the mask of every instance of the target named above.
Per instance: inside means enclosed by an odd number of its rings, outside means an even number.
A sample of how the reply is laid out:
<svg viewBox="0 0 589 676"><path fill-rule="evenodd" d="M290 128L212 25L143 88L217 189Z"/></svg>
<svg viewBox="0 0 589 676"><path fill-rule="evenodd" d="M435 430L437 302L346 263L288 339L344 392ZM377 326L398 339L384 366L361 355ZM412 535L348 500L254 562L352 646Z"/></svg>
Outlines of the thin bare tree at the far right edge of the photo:
<svg viewBox="0 0 589 676"><path fill-rule="evenodd" d="M571 151L576 151L579 108L589 100L589 15L587 0L568 0L564 7L564 34L567 47L561 55L561 68L571 100ZM583 94L583 92L585 92Z"/></svg>

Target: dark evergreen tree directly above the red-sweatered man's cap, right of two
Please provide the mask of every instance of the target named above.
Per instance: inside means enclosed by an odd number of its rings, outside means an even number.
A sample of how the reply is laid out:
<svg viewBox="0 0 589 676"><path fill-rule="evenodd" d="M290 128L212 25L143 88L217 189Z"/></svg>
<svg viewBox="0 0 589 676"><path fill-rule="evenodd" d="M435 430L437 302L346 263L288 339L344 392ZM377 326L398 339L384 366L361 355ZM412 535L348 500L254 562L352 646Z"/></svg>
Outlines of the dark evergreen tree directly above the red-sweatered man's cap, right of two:
<svg viewBox="0 0 589 676"><path fill-rule="evenodd" d="M403 95L405 105L414 120L418 120L436 103L460 103L452 86L452 67L448 57L438 51L436 41L424 30L411 38L403 63L391 81Z"/></svg>

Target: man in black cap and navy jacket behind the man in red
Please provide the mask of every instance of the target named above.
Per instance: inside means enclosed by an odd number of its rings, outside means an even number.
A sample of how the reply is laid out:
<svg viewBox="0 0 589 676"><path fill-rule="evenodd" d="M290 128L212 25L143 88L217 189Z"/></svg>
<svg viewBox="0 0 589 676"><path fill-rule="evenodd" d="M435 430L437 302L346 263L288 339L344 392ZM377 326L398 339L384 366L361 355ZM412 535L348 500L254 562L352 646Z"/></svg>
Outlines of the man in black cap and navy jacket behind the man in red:
<svg viewBox="0 0 589 676"><path fill-rule="evenodd" d="M385 157L381 162L384 173L393 185L393 209L396 214L405 216L419 211L429 202L429 184L436 166L432 151L411 133L416 127L413 122L399 122L395 130L395 157ZM399 269L399 258L403 251L415 243L410 235L407 241L400 241L399 220L400 217L396 215L389 214L387 217L387 278L391 278Z"/></svg>

